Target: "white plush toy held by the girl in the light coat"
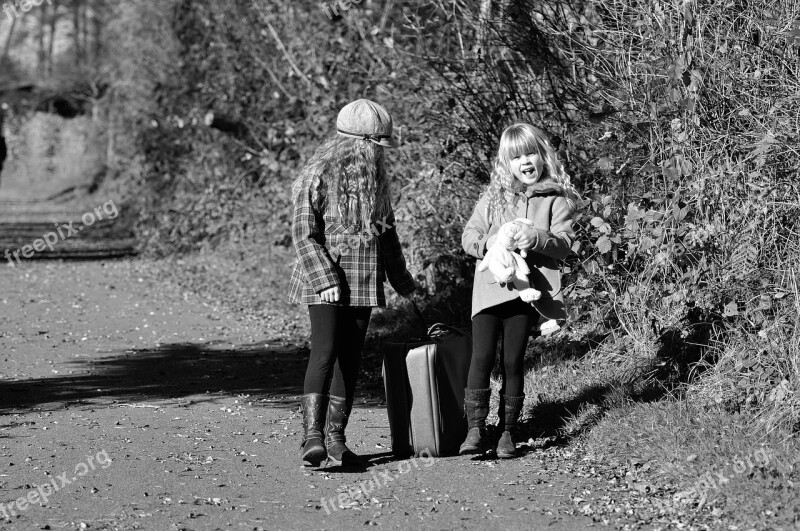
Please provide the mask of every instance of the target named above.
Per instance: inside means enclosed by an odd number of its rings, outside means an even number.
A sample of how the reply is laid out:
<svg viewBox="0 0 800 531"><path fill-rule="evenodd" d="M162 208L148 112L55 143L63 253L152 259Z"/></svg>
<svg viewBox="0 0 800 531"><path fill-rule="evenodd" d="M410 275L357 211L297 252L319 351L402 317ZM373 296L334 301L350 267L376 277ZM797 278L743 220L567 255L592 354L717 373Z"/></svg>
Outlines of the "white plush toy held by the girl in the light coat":
<svg viewBox="0 0 800 531"><path fill-rule="evenodd" d="M525 218L517 218L501 226L497 232L497 239L486 251L478 271L488 269L494 279L501 284L513 282L519 292L519 298L532 303L542 297L542 292L531 286L528 279L531 270L524 259L527 252L522 249L519 254L514 252L516 249L514 235L522 229L520 223L533 226L533 222ZM552 334L559 328L555 319L549 319L537 326L542 335Z"/></svg>

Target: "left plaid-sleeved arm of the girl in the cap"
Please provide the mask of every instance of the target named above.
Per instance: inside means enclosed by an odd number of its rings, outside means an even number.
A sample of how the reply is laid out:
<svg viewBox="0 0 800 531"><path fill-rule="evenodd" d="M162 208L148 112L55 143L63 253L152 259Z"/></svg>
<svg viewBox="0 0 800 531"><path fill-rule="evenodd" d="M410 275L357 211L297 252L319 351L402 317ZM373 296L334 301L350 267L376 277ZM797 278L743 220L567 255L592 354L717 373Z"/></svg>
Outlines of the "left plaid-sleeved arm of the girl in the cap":
<svg viewBox="0 0 800 531"><path fill-rule="evenodd" d="M320 215L311 200L311 181L303 182L294 198L292 243L300 268L315 293L339 286L333 260L320 243L325 237L317 221Z"/></svg>

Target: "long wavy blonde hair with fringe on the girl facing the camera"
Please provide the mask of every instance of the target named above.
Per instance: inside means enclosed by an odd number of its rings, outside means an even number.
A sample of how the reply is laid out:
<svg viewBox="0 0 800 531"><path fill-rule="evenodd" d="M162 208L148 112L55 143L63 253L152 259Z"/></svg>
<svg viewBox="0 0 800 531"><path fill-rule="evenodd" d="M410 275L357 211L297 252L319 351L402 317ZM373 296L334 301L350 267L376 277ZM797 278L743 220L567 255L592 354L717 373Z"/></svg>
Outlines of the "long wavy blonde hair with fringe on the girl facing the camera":
<svg viewBox="0 0 800 531"><path fill-rule="evenodd" d="M500 147L486 188L489 215L493 219L504 219L504 212L521 199L526 186L511 173L511 160L528 153L538 153L544 161L542 176L537 182L551 181L560 185L570 208L580 203L578 191L544 133L529 123L518 122L506 127L500 136Z"/></svg>

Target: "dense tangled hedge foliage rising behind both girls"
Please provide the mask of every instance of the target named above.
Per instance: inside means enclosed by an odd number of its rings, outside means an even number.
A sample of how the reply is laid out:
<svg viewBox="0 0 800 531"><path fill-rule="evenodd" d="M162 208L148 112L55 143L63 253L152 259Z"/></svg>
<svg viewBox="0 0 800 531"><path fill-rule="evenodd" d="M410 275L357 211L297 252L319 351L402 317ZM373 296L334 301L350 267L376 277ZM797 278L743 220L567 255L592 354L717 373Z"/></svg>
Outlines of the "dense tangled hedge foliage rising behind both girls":
<svg viewBox="0 0 800 531"><path fill-rule="evenodd" d="M152 28L116 29L116 79L130 82L110 112L131 117L158 253L288 245L289 183L337 110L370 97L395 117L401 238L443 307L471 282L461 228L517 119L549 133L583 191L564 269L576 325L656 361L661 338L675 356L659 374L685 381L720 359L715 341L770 330L794 297L790 2L365 1L328 20L310 0L171 0L120 14ZM208 128L209 112L236 133Z"/></svg>

